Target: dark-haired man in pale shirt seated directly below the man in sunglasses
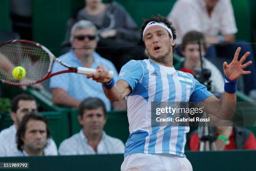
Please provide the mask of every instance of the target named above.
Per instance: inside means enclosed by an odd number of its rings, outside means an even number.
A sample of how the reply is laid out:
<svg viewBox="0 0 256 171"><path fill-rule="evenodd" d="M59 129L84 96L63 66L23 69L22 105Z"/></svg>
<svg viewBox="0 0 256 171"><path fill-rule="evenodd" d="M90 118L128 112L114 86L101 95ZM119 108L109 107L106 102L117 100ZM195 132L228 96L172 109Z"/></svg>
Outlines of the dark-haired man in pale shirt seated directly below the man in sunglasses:
<svg viewBox="0 0 256 171"><path fill-rule="evenodd" d="M78 112L78 121L82 129L61 142L60 155L124 153L123 142L108 136L102 130L107 121L107 113L100 99L84 99L78 107Z"/></svg>

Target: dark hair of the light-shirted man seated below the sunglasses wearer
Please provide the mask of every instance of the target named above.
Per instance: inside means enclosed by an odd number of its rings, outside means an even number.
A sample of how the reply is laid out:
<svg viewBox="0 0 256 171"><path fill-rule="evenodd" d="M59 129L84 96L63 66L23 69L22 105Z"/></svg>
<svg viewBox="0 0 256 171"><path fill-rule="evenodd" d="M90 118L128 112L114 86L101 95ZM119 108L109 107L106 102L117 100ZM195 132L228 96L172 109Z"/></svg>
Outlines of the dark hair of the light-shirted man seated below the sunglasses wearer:
<svg viewBox="0 0 256 171"><path fill-rule="evenodd" d="M84 110L86 110L86 109L89 109L89 110L90 109L98 109L100 107L102 107L103 112L104 112L104 116L106 117L107 116L107 110L106 110L105 104L102 102L102 100L98 99L98 98L89 97L89 98L84 99L79 104L78 114L79 114L79 116L83 117Z"/></svg>

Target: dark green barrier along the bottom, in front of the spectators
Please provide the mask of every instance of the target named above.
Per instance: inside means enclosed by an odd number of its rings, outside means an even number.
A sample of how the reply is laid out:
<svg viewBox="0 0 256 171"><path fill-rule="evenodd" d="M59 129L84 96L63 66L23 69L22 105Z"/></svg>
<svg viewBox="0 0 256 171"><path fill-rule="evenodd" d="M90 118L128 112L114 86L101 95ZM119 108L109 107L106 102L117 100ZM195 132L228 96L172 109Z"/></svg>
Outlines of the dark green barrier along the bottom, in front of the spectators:
<svg viewBox="0 0 256 171"><path fill-rule="evenodd" d="M187 152L193 171L255 171L256 151ZM0 162L29 162L18 171L120 171L123 154L3 157ZM154 163L154 161L152 161ZM13 170L13 169L12 169Z"/></svg>

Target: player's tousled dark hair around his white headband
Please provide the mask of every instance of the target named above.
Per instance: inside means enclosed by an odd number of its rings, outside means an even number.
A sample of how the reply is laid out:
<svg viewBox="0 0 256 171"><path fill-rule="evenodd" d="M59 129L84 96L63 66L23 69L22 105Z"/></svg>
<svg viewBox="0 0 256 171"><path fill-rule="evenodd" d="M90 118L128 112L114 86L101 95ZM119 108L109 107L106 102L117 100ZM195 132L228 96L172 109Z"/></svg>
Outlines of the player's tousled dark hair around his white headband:
<svg viewBox="0 0 256 171"><path fill-rule="evenodd" d="M148 22L151 22L151 21L155 21L155 22L163 22L165 25L167 25L168 28L170 28L172 30L172 35L173 37L171 36L171 34L169 33L169 37L172 37L173 40L176 39L176 29L172 26L172 22L170 22L166 17L163 17L161 15L157 15L157 16L154 16L152 15L150 18L148 18L147 20L144 20L142 26L141 26L141 38L143 36L143 31L146 27L146 25L148 24Z"/></svg>

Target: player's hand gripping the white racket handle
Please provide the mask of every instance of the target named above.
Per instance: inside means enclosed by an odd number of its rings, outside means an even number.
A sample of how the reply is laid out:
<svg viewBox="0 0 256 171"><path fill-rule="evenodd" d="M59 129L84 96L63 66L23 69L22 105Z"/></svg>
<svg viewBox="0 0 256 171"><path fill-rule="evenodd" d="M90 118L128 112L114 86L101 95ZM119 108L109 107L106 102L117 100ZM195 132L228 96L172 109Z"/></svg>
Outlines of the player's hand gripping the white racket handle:
<svg viewBox="0 0 256 171"><path fill-rule="evenodd" d="M107 83L111 77L108 77L109 71L106 67L99 65L97 66L97 74L88 74L86 77L92 78L96 82Z"/></svg>

